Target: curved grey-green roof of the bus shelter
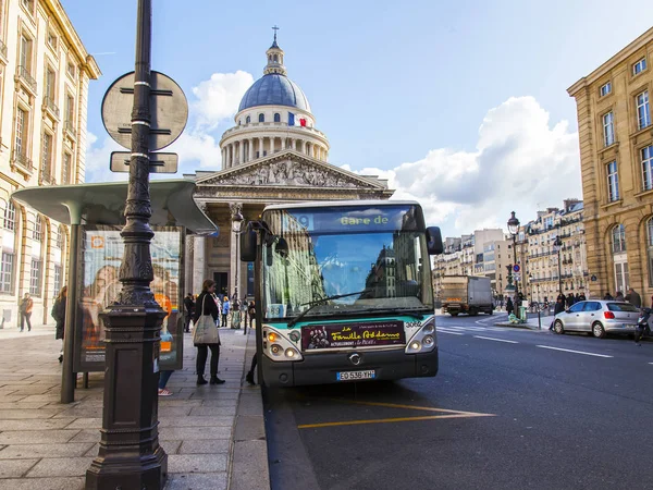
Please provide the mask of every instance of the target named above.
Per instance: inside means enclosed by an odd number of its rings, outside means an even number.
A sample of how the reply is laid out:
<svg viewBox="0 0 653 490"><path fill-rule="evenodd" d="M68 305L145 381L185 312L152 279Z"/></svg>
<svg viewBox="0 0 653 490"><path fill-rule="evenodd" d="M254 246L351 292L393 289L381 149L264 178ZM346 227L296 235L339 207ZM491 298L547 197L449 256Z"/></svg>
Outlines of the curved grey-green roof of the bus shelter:
<svg viewBox="0 0 653 490"><path fill-rule="evenodd" d="M193 199L195 182L150 182L153 226L184 226L200 235L217 235L218 225ZM126 182L52 185L15 191L12 198L64 224L124 224Z"/></svg>

